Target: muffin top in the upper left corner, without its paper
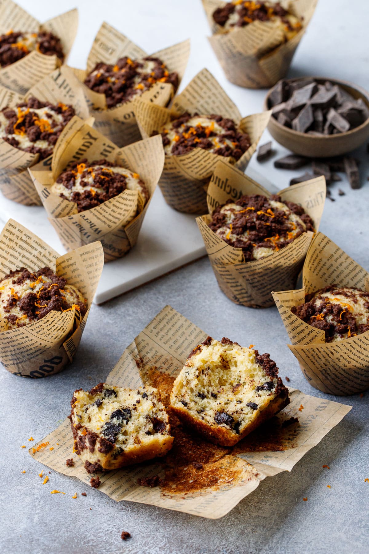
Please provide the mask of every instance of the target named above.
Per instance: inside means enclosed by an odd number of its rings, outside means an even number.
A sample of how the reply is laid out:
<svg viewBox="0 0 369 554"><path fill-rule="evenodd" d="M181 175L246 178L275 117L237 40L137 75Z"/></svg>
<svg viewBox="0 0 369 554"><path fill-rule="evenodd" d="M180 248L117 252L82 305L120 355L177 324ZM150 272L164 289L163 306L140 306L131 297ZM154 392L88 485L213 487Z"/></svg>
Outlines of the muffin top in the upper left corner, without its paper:
<svg viewBox="0 0 369 554"><path fill-rule="evenodd" d="M6 67L24 58L25 55L37 50L47 56L56 55L63 63L64 52L60 38L53 33L40 31L39 33L28 33L10 30L0 36L0 67Z"/></svg>

